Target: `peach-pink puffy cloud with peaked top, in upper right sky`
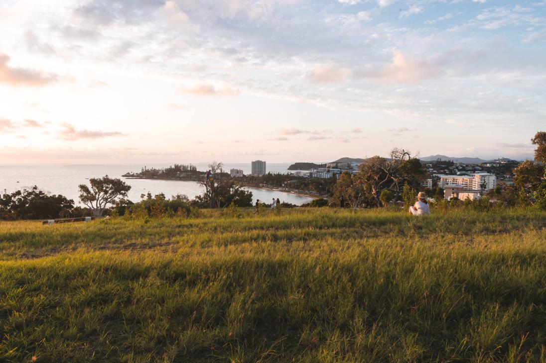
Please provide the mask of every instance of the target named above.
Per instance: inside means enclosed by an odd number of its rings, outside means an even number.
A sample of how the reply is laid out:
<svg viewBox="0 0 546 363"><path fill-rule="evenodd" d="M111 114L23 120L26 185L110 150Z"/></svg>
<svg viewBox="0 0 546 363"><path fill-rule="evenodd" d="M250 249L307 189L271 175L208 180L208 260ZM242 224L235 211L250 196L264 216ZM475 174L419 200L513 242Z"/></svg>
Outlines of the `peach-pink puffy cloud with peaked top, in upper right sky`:
<svg viewBox="0 0 546 363"><path fill-rule="evenodd" d="M401 51L394 51L393 61L387 64L383 71L371 77L379 82L412 84L435 78L437 75L436 65L426 61L416 61Z"/></svg>

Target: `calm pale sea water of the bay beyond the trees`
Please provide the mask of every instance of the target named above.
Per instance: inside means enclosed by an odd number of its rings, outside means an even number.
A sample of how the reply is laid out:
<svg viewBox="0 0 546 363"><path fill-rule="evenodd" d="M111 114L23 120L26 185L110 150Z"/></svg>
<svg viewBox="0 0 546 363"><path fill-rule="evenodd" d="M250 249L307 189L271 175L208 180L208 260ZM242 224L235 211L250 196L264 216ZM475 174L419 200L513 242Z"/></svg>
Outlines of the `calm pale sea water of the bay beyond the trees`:
<svg viewBox="0 0 546 363"><path fill-rule="evenodd" d="M167 167L169 165L147 165L147 167ZM198 170L206 170L206 164L196 164ZM289 164L268 164L268 171L286 172ZM37 185L41 190L51 194L61 194L78 203L78 185L88 183L89 178L108 175L112 178L124 179L122 174L126 172L139 172L141 165L40 165L40 166L1 166L0 165L0 192L4 190L13 192L23 187ZM225 170L230 168L242 169L250 173L250 163L225 164ZM165 193L170 197L176 194L185 194L190 199L203 193L203 189L194 181L178 180L148 180L148 179L124 179L132 186L129 191L129 199L133 202L140 200L141 194L151 192L152 195ZM307 203L312 199L292 193L278 192L257 188L247 188L252 191L254 201L260 199L265 202L272 198L279 198L283 202L296 205Z"/></svg>

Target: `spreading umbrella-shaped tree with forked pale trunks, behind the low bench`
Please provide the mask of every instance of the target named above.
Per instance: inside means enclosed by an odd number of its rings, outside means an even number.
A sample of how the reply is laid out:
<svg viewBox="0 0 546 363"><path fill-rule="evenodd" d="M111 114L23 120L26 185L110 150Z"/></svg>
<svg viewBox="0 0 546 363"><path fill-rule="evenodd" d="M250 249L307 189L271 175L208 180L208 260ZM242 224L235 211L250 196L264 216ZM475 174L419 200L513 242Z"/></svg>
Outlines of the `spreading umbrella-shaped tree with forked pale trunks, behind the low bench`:
<svg viewBox="0 0 546 363"><path fill-rule="evenodd" d="M118 198L126 198L131 189L121 179L113 179L108 176L89 179L91 188L80 184L80 201L93 210L94 216L102 216L108 204L114 204Z"/></svg>

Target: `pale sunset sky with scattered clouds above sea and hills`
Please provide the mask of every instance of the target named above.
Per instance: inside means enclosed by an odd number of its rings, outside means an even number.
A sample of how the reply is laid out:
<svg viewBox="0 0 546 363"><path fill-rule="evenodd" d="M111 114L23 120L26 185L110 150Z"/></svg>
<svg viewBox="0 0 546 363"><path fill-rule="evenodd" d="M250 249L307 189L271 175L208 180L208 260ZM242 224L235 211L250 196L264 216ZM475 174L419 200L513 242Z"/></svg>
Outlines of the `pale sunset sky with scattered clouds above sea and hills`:
<svg viewBox="0 0 546 363"><path fill-rule="evenodd" d="M532 158L546 1L0 0L0 165Z"/></svg>

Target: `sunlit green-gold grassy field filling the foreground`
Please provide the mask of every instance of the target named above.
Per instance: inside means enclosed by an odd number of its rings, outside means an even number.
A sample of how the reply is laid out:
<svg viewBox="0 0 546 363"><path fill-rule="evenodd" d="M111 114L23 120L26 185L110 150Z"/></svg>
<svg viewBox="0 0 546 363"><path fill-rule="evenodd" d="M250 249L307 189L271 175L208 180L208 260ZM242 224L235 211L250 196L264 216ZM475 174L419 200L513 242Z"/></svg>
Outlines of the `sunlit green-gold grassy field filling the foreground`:
<svg viewBox="0 0 546 363"><path fill-rule="evenodd" d="M201 214L0 222L0 361L546 361L544 212Z"/></svg>

